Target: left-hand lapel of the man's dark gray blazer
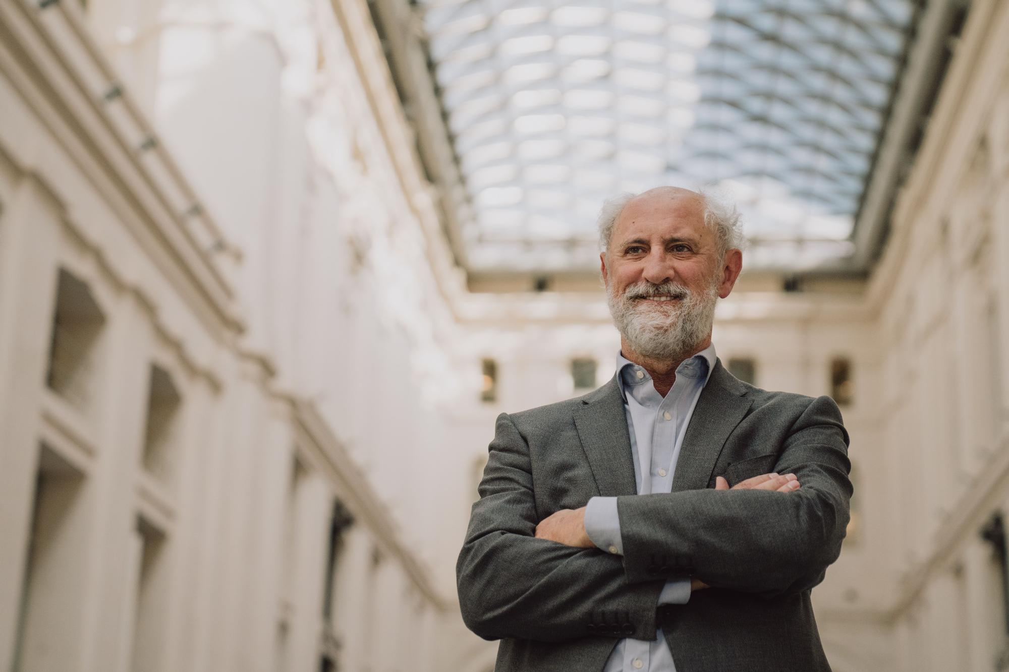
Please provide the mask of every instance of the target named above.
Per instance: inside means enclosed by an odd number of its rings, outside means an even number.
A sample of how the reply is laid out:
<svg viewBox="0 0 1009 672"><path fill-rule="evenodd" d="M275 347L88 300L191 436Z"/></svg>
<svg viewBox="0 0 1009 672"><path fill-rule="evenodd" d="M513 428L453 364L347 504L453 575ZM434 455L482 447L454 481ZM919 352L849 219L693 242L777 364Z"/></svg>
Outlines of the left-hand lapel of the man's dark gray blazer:
<svg viewBox="0 0 1009 672"><path fill-rule="evenodd" d="M574 424L599 494L637 493L631 435L616 375L581 401L574 413Z"/></svg>

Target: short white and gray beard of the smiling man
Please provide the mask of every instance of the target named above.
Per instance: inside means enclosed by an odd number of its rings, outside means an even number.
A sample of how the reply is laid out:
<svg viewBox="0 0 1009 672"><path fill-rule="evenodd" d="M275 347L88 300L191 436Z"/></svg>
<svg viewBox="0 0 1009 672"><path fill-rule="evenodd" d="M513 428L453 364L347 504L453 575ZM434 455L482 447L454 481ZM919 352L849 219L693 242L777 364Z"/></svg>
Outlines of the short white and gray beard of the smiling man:
<svg viewBox="0 0 1009 672"><path fill-rule="evenodd" d="M671 296L678 300L655 302L637 297ZM684 359L711 331L714 304L718 300L717 277L703 293L693 293L667 281L653 285L642 281L614 296L606 286L606 305L616 330L638 354L649 359Z"/></svg>

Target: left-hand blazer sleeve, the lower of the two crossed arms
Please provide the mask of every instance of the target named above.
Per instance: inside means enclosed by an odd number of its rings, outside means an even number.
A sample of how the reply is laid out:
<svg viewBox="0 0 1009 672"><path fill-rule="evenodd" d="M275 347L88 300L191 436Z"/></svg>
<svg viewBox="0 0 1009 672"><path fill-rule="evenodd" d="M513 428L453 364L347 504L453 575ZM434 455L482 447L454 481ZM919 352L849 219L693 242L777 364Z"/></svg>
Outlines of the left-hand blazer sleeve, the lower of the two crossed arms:
<svg viewBox="0 0 1009 672"><path fill-rule="evenodd" d="M618 556L535 538L529 446L507 414L478 491L456 563L467 628L486 640L655 639L664 580L629 584Z"/></svg>

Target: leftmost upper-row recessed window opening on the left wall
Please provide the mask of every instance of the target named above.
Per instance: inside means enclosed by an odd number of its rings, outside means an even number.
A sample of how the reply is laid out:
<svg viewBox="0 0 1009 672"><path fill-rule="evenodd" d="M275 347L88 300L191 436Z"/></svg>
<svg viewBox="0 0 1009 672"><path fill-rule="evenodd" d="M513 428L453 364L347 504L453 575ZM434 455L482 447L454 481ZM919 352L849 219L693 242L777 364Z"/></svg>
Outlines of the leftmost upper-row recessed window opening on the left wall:
<svg viewBox="0 0 1009 672"><path fill-rule="evenodd" d="M72 406L93 403L99 336L105 316L88 286L60 269L45 383Z"/></svg>

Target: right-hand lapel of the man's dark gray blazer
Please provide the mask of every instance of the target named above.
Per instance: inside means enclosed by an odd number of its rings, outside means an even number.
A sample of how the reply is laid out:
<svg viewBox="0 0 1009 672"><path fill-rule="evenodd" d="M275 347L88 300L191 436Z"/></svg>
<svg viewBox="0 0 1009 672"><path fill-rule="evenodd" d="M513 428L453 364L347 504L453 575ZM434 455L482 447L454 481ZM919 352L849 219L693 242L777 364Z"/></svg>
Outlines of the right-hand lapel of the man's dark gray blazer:
<svg viewBox="0 0 1009 672"><path fill-rule="evenodd" d="M680 446L673 492L707 487L725 439L753 405L746 394L747 388L715 358Z"/></svg>

